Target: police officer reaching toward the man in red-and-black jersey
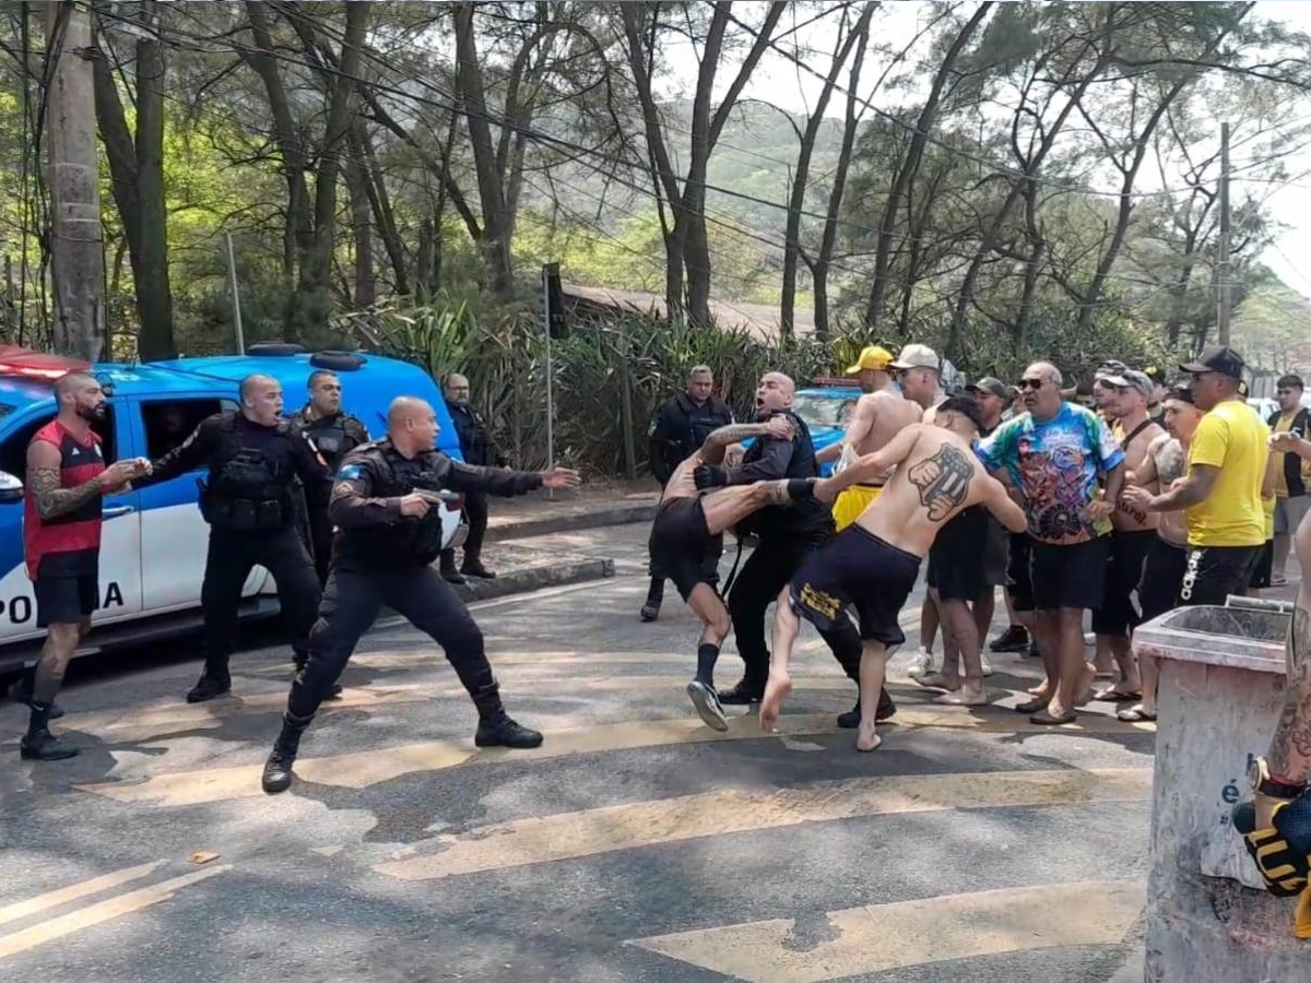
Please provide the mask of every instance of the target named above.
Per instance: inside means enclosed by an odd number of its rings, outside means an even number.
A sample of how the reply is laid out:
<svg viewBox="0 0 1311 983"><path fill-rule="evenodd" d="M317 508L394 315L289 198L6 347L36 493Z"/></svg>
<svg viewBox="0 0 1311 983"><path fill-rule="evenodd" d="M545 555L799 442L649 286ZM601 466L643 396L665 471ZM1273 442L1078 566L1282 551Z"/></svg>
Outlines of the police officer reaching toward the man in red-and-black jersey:
<svg viewBox="0 0 1311 983"><path fill-rule="evenodd" d="M291 645L304 640L319 606L319 578L296 528L296 478L307 488L326 468L303 435L282 418L282 385L266 375L241 380L241 409L216 413L155 461L144 486L199 467L201 514L210 523L201 608L205 613L205 672L186 695L202 703L232 688L228 658L236 646L237 604L250 568L267 568L278 582Z"/></svg>

